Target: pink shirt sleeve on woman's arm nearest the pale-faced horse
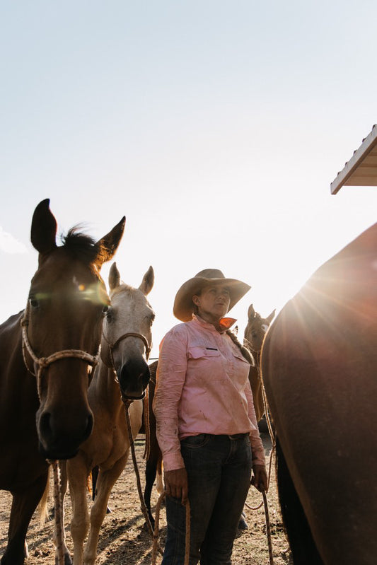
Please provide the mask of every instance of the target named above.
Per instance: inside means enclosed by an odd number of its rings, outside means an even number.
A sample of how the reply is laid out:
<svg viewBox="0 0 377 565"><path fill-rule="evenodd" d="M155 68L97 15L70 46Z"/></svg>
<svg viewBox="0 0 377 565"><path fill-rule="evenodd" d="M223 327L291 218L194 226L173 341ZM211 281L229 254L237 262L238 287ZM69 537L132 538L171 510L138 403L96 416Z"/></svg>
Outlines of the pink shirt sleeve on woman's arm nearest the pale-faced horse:
<svg viewBox="0 0 377 565"><path fill-rule="evenodd" d="M170 330L161 342L153 398L157 441L166 471L185 467L180 453L178 407L186 371L187 336L178 326Z"/></svg>

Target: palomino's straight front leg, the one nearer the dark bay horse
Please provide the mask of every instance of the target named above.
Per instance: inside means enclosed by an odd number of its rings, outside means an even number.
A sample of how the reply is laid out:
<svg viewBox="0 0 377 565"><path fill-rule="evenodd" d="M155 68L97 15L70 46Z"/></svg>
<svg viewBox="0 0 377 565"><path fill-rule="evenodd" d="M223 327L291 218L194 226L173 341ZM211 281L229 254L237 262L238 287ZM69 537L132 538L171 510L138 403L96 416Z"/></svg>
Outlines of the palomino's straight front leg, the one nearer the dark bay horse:
<svg viewBox="0 0 377 565"><path fill-rule="evenodd" d="M66 465L72 503L71 536L74 542L74 565L82 565L83 543L89 528L86 493L90 469L81 453L68 460Z"/></svg>

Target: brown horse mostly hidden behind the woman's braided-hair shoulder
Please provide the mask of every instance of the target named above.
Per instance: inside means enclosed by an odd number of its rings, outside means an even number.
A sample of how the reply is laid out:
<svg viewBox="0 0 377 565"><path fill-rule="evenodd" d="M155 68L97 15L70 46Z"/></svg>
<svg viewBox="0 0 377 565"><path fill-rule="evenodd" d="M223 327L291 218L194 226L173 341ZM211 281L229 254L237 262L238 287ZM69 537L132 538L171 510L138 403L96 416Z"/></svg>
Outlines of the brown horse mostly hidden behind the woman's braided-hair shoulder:
<svg viewBox="0 0 377 565"><path fill-rule="evenodd" d="M262 349L265 333L267 332L274 315L275 310L273 310L267 318L262 318L260 314L255 312L253 304L250 304L248 309L248 325L245 327L243 344L251 351L255 360L255 368L250 368L249 380L251 390L253 390L253 400L257 421L260 421L263 414L265 414L262 383L260 380L260 350Z"/></svg>

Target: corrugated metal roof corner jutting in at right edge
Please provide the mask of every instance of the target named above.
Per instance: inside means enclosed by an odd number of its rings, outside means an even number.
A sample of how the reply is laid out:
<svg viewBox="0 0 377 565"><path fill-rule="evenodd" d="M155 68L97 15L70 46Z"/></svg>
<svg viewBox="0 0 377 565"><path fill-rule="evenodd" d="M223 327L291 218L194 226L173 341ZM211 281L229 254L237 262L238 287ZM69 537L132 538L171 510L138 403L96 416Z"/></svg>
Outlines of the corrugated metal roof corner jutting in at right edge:
<svg viewBox="0 0 377 565"><path fill-rule="evenodd" d="M342 186L377 186L377 124L332 181L331 194L336 194Z"/></svg>

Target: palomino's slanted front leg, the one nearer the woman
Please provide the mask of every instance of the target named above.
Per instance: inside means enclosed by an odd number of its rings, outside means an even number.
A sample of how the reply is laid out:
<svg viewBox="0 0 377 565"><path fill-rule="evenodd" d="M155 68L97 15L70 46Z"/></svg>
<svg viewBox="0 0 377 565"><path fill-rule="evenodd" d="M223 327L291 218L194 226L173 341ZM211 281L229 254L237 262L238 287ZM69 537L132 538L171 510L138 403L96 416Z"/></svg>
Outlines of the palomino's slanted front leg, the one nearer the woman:
<svg viewBox="0 0 377 565"><path fill-rule="evenodd" d="M108 500L111 489L117 481L118 477L124 469L129 450L122 456L115 465L106 471L100 470L97 482L97 494L91 509L91 528L89 529L88 541L83 552L83 564L93 565L97 557L98 537L100 535L100 527L103 519L106 516L106 508L108 507ZM76 565L76 561L74 561Z"/></svg>

